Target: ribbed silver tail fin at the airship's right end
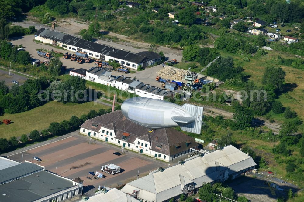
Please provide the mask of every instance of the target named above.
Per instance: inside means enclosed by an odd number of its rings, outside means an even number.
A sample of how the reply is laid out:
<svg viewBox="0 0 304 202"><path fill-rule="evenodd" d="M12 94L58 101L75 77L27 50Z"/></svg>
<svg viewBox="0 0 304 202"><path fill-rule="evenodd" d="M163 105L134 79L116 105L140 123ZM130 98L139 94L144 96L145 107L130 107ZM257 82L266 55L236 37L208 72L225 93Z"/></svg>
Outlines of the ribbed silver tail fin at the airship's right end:
<svg viewBox="0 0 304 202"><path fill-rule="evenodd" d="M202 128L202 118L203 118L203 107L194 106L190 104L184 104L182 106L186 109L192 116L195 117L195 122L189 123L188 125L181 126L181 130L201 134Z"/></svg>

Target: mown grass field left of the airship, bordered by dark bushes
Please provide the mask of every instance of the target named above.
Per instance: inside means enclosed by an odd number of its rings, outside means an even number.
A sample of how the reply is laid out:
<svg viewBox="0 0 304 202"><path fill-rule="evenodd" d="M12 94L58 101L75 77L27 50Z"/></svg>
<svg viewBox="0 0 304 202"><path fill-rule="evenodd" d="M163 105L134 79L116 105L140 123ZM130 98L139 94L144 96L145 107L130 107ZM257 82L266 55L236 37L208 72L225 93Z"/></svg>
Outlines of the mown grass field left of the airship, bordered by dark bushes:
<svg viewBox="0 0 304 202"><path fill-rule="evenodd" d="M13 123L9 125L2 123L0 125L0 130L2 131L0 137L19 137L35 129L46 129L51 122L61 122L64 119L68 120L72 115L79 117L92 109L98 111L101 108L108 109L109 107L99 103L94 105L94 102L63 104L52 101L26 112L4 114L4 116L0 117L0 120L10 119Z"/></svg>

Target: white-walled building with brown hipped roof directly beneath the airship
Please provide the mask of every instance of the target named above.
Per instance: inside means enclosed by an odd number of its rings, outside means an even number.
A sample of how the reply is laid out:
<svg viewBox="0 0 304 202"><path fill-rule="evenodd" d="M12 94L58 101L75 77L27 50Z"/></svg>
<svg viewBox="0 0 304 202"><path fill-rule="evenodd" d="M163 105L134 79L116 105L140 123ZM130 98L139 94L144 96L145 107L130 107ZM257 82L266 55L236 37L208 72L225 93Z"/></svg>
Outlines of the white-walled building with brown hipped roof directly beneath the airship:
<svg viewBox="0 0 304 202"><path fill-rule="evenodd" d="M188 156L190 149L198 146L192 137L173 128L149 132L128 120L121 110L86 120L80 133L166 162Z"/></svg>

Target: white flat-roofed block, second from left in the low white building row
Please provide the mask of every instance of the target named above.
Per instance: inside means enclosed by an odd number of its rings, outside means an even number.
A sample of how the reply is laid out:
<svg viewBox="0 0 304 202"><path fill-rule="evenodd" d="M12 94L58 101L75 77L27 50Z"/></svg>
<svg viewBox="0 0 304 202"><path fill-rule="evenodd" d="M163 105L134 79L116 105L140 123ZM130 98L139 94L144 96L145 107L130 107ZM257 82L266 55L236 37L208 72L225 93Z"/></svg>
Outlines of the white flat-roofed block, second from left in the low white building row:
<svg viewBox="0 0 304 202"><path fill-rule="evenodd" d="M86 72L85 79L95 83L100 83L107 86L114 86L114 78L112 72L104 70L100 67L92 67Z"/></svg>

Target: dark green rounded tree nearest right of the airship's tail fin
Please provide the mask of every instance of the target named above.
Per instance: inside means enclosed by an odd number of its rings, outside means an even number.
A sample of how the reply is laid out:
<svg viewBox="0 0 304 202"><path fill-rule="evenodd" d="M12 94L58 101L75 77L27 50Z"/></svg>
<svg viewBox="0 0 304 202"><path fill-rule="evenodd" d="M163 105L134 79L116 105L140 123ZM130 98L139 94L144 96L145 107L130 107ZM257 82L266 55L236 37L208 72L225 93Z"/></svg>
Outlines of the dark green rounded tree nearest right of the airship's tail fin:
<svg viewBox="0 0 304 202"><path fill-rule="evenodd" d="M250 109L238 103L234 106L234 111L233 120L236 122L237 128L244 129L251 126L253 115Z"/></svg>

